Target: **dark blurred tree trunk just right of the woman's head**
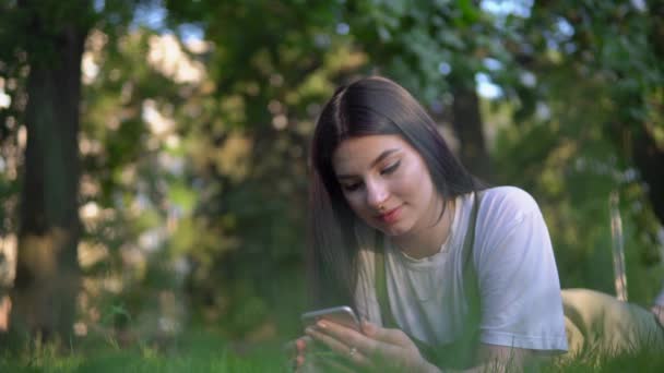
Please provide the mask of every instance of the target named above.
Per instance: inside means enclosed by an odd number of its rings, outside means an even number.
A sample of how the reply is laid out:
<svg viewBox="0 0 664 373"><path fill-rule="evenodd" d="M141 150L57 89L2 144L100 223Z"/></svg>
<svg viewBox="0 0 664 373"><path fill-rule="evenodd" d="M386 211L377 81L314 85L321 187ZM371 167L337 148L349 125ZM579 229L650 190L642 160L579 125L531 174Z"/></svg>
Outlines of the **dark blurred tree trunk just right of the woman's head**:
<svg viewBox="0 0 664 373"><path fill-rule="evenodd" d="M461 144L461 161L473 175L484 181L490 181L490 163L484 141L477 93L467 87L454 89L452 115L454 132Z"/></svg>

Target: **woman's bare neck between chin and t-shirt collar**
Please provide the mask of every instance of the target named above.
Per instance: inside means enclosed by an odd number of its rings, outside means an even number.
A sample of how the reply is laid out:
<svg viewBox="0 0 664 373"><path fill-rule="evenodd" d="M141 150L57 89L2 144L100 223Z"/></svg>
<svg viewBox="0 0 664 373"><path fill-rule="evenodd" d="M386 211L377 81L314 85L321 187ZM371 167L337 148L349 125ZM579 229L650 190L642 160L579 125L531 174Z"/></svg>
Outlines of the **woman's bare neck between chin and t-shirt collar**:
<svg viewBox="0 0 664 373"><path fill-rule="evenodd" d="M414 258L423 258L437 254L440 246L450 236L450 228L454 218L454 201L441 202L439 208L435 208L436 215L417 231L392 238L392 242L406 255ZM444 213L440 217L440 210L444 206ZM440 217L440 218L439 218Z"/></svg>

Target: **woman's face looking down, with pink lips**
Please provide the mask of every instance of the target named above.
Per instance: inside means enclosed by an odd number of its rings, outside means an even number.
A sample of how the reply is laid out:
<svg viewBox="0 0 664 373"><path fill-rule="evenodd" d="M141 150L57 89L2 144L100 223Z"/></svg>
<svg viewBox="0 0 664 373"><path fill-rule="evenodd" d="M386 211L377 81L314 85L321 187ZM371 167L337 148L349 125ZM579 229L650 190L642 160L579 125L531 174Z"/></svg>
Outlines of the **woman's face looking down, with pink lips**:
<svg viewBox="0 0 664 373"><path fill-rule="evenodd" d="M416 233L437 221L441 200L429 170L401 136L344 140L332 166L351 208L386 234Z"/></svg>

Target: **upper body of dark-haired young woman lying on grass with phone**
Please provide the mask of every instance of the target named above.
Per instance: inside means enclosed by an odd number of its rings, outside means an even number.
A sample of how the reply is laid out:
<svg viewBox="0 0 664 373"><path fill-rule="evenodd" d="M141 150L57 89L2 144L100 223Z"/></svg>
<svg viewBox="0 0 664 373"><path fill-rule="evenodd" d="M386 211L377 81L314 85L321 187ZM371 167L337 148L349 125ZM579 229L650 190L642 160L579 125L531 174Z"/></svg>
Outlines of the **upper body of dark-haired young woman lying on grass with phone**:
<svg viewBox="0 0 664 373"><path fill-rule="evenodd" d="M315 346L352 368L412 372L522 365L567 350L537 204L517 188L484 189L403 87L368 77L339 88L311 163L316 305L349 304L365 322L308 327L297 366L321 363Z"/></svg>

